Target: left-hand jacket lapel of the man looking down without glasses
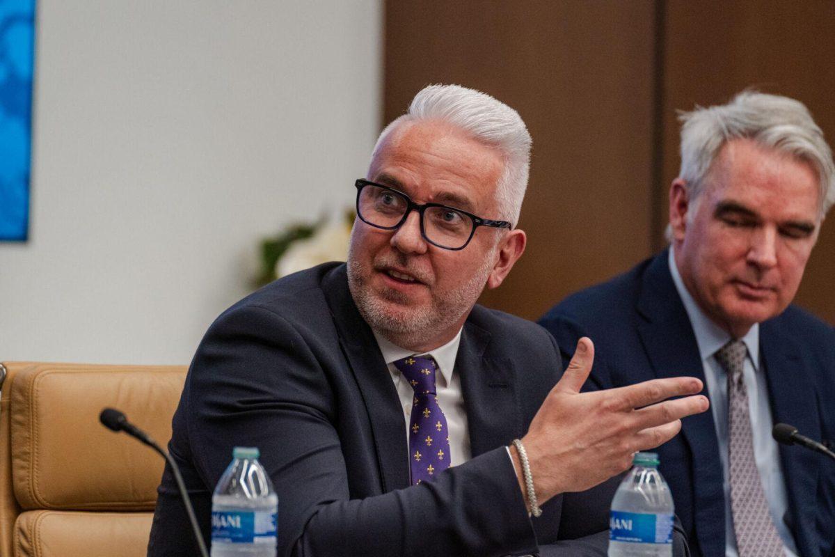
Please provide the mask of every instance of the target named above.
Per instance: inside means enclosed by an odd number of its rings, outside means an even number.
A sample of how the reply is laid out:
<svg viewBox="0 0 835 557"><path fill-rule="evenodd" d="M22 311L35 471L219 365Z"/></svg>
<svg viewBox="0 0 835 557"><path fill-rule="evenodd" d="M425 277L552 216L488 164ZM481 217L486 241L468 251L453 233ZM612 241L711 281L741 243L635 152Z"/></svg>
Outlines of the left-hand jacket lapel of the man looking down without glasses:
<svg viewBox="0 0 835 557"><path fill-rule="evenodd" d="M705 383L696 335L676 291L667 257L667 251L655 257L643 276L638 311L645 322L638 325L640 339L656 377L690 376ZM701 393L707 397L707 387ZM692 455L692 511L699 545L704 554L724 554L725 536L717 533L725 531L725 494L713 413L684 418L681 434Z"/></svg>

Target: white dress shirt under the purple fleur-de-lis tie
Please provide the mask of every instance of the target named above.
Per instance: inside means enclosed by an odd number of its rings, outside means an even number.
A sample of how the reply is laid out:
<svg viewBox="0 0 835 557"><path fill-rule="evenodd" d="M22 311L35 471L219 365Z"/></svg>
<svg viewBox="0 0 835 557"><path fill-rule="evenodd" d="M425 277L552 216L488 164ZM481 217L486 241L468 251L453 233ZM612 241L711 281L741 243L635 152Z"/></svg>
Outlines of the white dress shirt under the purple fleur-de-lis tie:
<svg viewBox="0 0 835 557"><path fill-rule="evenodd" d="M458 466L472 458L469 443L469 428L467 425L467 412L464 409L464 397L461 392L461 377L454 373L455 357L458 356L458 345L461 343L461 331L455 335L453 340L447 342L443 347L435 348L429 352L414 352L406 348L398 347L392 342L374 332L374 338L382 352L382 359L392 374L394 387L397 388L397 396L400 397L400 407L403 409L405 418L403 434L406 443L409 443L409 418L412 415L412 399L414 389L403 377L403 374L394 363L407 356L423 356L428 354L435 359L438 369L435 370L435 388L438 397L438 406L441 407L443 415L447 418L447 429L449 432L449 452L452 453L450 466Z"/></svg>

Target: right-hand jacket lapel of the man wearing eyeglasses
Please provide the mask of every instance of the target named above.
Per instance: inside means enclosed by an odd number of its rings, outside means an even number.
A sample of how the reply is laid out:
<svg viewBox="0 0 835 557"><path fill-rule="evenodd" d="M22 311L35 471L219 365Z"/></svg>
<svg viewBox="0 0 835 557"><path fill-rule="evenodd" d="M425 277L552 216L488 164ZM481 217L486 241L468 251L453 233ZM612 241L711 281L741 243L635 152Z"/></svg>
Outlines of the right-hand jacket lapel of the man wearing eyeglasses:
<svg viewBox="0 0 835 557"><path fill-rule="evenodd" d="M473 457L520 437L513 362L485 355L490 333L472 322L464 324L455 360Z"/></svg>

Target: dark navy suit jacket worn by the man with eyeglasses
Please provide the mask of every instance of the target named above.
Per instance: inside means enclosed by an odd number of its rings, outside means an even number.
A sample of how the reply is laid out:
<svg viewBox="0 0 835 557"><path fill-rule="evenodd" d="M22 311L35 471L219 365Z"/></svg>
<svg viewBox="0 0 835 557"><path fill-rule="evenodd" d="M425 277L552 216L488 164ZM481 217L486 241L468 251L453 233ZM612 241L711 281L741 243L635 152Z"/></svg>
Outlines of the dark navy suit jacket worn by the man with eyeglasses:
<svg viewBox="0 0 835 557"><path fill-rule="evenodd" d="M616 479L529 519L505 449L558 380L559 358L541 327L475 306L455 363L473 458L410 487L397 391L345 265L326 264L266 286L210 327L170 453L207 540L211 492L243 445L261 449L276 487L279 555L602 555ZM191 538L166 468L149 555L196 554Z"/></svg>

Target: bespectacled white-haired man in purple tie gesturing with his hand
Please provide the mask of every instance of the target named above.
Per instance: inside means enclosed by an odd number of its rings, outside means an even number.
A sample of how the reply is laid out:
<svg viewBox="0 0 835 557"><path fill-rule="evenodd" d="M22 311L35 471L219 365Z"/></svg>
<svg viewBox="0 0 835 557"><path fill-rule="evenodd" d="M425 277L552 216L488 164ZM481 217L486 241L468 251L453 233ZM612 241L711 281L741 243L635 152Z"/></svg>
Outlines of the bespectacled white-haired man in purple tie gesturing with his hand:
<svg viewBox="0 0 835 557"><path fill-rule="evenodd" d="M707 403L686 377L580 394L588 339L560 377L547 332L476 305L524 251L529 149L496 99L423 89L356 182L347 264L210 327L170 442L207 539L212 489L246 445L276 486L280 555L605 554L615 483L572 492ZM166 468L149 555L194 554L187 524Z"/></svg>

